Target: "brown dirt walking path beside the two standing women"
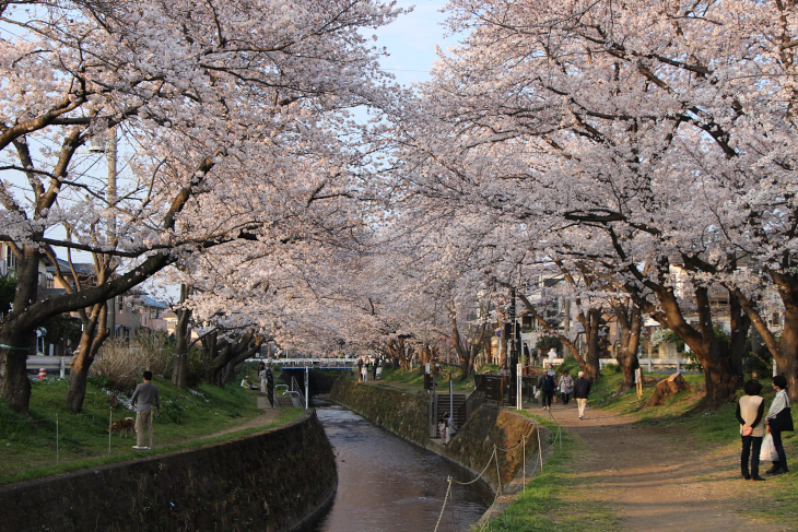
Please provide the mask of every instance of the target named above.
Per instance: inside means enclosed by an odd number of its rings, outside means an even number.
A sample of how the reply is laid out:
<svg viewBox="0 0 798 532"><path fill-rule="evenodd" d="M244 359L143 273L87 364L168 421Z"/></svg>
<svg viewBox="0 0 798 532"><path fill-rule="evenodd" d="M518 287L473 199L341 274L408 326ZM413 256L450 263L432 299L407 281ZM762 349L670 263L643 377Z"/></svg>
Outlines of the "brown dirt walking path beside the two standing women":
<svg viewBox="0 0 798 532"><path fill-rule="evenodd" d="M749 531L761 524L735 512L765 483L740 478L734 446L696 445L689 435L633 425L631 418L554 405L552 415L582 438L587 452L573 462L584 477L579 496L607 504L624 531ZM767 529L795 531L796 525Z"/></svg>

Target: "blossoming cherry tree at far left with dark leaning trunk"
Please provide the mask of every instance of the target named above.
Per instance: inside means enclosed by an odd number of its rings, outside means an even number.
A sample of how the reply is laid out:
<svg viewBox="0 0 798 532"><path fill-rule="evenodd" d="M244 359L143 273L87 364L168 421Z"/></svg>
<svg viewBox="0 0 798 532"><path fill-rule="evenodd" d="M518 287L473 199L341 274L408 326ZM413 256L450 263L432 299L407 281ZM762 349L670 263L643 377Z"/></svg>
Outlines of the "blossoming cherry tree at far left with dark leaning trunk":
<svg viewBox="0 0 798 532"><path fill-rule="evenodd" d="M0 239L19 263L0 322L11 407L27 410L26 346L48 317L199 250L345 225L335 204L373 196L359 142L385 127L359 126L348 109L394 97L362 31L399 12L368 0L2 4L14 31L0 45ZM79 153L110 130L129 146L115 191ZM38 300L39 260L58 249L98 253L113 274Z"/></svg>

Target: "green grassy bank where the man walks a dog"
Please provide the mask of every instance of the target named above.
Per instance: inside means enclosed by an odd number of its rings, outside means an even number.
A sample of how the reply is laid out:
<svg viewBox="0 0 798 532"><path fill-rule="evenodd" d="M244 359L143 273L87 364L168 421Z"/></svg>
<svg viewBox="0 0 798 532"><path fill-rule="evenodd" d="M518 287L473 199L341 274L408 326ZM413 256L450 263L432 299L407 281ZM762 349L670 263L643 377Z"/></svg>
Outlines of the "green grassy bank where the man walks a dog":
<svg viewBox="0 0 798 532"><path fill-rule="evenodd" d="M64 402L67 380L34 381L31 418L0 401L0 484L208 445L287 423L302 413L302 409L281 409L267 426L204 438L260 414L258 392L244 390L237 382L224 389L200 385L193 390L180 390L159 377L153 382L161 394L162 414L154 418L155 449L149 451L131 449L136 445L132 433L127 438L116 433L108 438L109 417L114 422L136 417L128 406L132 390L112 392L90 379L83 413L71 414ZM119 400L113 409L110 393Z"/></svg>

